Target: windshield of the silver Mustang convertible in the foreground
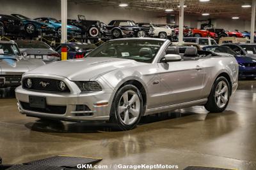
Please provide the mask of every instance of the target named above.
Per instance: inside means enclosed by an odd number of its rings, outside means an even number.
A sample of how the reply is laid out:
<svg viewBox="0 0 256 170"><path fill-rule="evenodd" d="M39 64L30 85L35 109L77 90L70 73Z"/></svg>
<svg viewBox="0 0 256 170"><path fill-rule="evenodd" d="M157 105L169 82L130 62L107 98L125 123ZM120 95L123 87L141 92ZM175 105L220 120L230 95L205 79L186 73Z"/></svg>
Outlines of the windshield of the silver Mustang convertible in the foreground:
<svg viewBox="0 0 256 170"><path fill-rule="evenodd" d="M87 57L111 57L151 63L164 41L152 39L120 39L108 41Z"/></svg>

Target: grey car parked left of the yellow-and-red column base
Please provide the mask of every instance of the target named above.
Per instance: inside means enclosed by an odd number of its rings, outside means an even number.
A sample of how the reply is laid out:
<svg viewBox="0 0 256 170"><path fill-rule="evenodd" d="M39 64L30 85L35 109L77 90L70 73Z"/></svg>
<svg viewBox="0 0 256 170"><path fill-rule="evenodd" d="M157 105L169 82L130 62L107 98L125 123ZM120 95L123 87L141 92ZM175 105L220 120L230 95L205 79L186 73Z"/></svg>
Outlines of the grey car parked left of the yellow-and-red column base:
<svg viewBox="0 0 256 170"><path fill-rule="evenodd" d="M40 59L48 64L60 60L60 54L43 41L15 40L20 52L27 59Z"/></svg>

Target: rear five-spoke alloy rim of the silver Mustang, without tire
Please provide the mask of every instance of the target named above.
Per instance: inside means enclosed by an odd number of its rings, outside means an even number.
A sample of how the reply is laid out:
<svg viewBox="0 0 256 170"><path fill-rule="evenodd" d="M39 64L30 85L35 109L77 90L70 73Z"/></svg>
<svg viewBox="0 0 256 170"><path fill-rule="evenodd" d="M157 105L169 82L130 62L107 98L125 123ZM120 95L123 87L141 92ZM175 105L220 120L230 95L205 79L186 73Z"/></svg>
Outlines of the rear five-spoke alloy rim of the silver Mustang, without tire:
<svg viewBox="0 0 256 170"><path fill-rule="evenodd" d="M219 108L224 108L228 102L228 85L220 81L215 90L215 102Z"/></svg>

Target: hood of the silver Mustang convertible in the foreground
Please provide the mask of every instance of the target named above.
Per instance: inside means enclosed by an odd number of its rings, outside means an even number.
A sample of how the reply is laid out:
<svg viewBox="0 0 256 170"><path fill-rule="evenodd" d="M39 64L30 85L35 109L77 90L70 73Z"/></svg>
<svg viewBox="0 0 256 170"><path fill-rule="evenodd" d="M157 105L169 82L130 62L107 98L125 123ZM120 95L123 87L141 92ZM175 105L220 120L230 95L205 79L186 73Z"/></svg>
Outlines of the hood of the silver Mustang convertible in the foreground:
<svg viewBox="0 0 256 170"><path fill-rule="evenodd" d="M108 57L88 57L84 59L63 60L38 67L26 74L47 74L68 78L72 81L88 81L95 76L103 75L125 67L140 66L145 63L129 59Z"/></svg>

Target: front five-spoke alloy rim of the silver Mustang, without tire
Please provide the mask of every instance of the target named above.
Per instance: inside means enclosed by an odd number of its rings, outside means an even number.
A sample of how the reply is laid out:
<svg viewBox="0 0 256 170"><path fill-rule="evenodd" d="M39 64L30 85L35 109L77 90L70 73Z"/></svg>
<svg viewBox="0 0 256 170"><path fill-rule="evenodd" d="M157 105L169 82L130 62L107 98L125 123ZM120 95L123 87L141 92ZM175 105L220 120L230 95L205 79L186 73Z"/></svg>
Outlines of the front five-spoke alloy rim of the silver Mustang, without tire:
<svg viewBox="0 0 256 170"><path fill-rule="evenodd" d="M118 103L118 117L125 125L131 125L140 117L140 98L136 92L124 92Z"/></svg>

